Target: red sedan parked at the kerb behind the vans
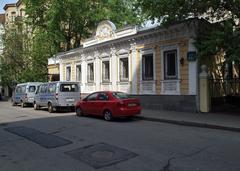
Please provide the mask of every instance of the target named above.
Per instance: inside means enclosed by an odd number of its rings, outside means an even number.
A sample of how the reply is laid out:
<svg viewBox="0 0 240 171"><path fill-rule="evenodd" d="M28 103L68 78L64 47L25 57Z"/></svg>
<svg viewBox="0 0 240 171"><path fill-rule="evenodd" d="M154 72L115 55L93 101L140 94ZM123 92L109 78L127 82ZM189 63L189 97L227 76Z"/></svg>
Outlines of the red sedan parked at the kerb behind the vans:
<svg viewBox="0 0 240 171"><path fill-rule="evenodd" d="M101 115L110 121L114 117L128 117L141 113L140 100L116 91L94 92L76 103L76 115Z"/></svg>

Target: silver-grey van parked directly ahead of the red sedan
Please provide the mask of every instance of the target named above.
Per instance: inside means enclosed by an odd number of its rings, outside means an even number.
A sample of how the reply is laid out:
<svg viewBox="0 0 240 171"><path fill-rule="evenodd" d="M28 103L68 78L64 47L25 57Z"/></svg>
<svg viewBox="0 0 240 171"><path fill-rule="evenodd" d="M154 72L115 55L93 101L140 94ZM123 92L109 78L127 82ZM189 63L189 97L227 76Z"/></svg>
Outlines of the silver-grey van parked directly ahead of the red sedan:
<svg viewBox="0 0 240 171"><path fill-rule="evenodd" d="M43 83L35 93L34 109L48 107L49 113L63 108L74 110L75 103L80 99L80 93L78 82L56 81Z"/></svg>

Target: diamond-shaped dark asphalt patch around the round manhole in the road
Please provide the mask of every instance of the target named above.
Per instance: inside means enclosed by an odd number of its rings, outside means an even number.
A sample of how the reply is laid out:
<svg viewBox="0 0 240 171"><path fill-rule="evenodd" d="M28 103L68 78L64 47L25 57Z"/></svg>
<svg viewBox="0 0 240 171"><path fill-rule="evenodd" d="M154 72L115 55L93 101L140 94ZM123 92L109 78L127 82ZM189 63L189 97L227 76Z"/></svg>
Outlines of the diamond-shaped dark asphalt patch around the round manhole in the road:
<svg viewBox="0 0 240 171"><path fill-rule="evenodd" d="M72 158L99 169L126 161L137 154L105 143L94 144L66 152Z"/></svg>

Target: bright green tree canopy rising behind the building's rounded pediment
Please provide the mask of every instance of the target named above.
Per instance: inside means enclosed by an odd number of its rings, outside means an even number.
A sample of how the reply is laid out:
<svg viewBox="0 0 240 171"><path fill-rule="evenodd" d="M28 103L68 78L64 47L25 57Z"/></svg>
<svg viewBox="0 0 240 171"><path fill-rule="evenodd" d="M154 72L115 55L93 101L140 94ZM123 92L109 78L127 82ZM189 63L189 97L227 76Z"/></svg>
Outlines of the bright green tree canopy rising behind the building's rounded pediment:
<svg viewBox="0 0 240 171"><path fill-rule="evenodd" d="M140 22L134 1L127 0L25 0L28 22L43 29L53 46L65 51L80 46L97 23L109 19L123 26Z"/></svg>

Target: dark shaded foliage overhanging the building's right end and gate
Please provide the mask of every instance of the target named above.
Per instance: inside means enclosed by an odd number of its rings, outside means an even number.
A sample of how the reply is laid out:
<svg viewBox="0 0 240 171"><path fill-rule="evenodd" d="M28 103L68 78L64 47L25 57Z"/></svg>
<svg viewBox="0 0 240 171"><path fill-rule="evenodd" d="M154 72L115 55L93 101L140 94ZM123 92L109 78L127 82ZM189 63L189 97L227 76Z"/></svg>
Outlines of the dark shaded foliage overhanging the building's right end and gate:
<svg viewBox="0 0 240 171"><path fill-rule="evenodd" d="M149 19L167 24L193 17L218 22L199 34L198 56L209 58L223 52L226 62L240 62L240 0L139 0L138 7Z"/></svg>

